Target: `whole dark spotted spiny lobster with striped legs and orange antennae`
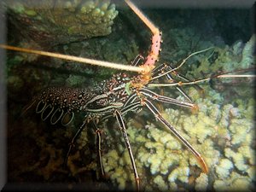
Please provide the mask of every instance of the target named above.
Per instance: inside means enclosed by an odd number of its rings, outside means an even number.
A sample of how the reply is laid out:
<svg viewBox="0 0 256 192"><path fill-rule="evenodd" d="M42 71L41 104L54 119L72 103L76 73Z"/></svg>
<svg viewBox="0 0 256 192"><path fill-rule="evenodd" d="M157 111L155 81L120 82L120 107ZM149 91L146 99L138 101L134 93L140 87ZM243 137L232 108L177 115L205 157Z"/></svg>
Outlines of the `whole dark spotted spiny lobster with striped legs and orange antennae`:
<svg viewBox="0 0 256 192"><path fill-rule="evenodd" d="M140 178L137 172L137 166L135 163L134 156L131 150L131 144L125 128L125 122L123 116L128 112L139 112L141 108L146 107L148 110L154 114L154 117L158 119L163 125L166 125L172 133L195 155L196 159L199 161L201 168L204 172L208 172L205 160L201 157L201 154L197 152L195 148L189 142L180 135L176 129L163 118L159 110L154 106L153 101L156 102L166 102L176 106L181 106L184 108L196 109L197 106L192 102L192 100L187 96L183 89L180 87L183 84L195 84L196 82L189 82L189 79L184 78L182 75L177 73L177 69L182 67L185 61L189 59L192 55L201 53L202 51L195 52L185 58L178 67L171 67L166 64L161 64L155 67L156 61L158 61L160 53L160 43L161 43L161 32L154 26L154 24L148 20L148 18L143 15L143 13L137 9L137 7L131 3L130 0L125 0L131 9L138 15L138 17L143 20L143 22L148 26L150 31L153 33L151 50L148 57L145 59L140 67L136 67L140 57L137 57L133 61L134 67L130 67L128 70L139 72L139 75L130 76L126 73L118 73L113 75L111 79L105 80L100 84L88 87L86 89L79 88L67 88L67 87L49 87L34 96L32 103L28 105L25 109L28 110L36 105L36 113L41 115L41 119L49 119L50 124L55 125L61 122L62 125L68 125L75 116L76 113L84 112L84 122L80 125L79 130L75 134L72 140L72 144L69 147L68 154L70 153L75 139L79 136L79 133L86 127L90 122L96 122L96 124L101 123L105 119L114 116L119 124L119 128L122 131L123 137L125 138L126 148L130 154L131 164L134 171L134 177L137 184L137 190L140 189ZM25 51L30 53L36 53L40 55L56 56L54 54L49 54L43 51L35 51L30 49L19 49L7 45L1 45L5 49L15 49L19 51ZM61 58L61 56L58 56ZM68 56L63 56L67 59ZM79 59L78 61L81 61ZM85 59L85 62L97 63L97 61L91 61ZM103 61L100 61L103 64ZM124 69L124 67L121 67ZM224 76L218 75L212 78L221 78ZM160 79L167 79L169 86L177 86L177 90L182 96L186 98L187 101L181 101L178 99L173 99L167 96L161 96L156 94L154 91L150 90L150 87L155 86L154 83ZM207 79L203 79L207 80ZM100 132L97 131L97 137L101 138ZM99 143L100 145L100 143ZM100 146L99 146L100 148ZM99 156L101 158L101 151L99 150ZM66 159L67 161L67 159ZM102 173L103 166L102 161Z"/></svg>

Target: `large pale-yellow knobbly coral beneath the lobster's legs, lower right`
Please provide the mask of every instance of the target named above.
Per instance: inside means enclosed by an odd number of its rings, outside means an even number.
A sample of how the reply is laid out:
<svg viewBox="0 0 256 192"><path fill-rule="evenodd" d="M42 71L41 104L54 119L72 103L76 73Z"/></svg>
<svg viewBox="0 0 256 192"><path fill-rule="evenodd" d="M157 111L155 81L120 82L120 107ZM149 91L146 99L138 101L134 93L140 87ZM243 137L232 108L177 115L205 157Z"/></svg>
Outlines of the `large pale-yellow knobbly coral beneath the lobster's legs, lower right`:
<svg viewBox="0 0 256 192"><path fill-rule="evenodd" d="M195 190L235 189L240 184L243 185L239 189L253 189L253 92L242 101L236 96L230 97L227 103L224 94L210 86L203 88L204 97L195 88L186 88L189 96L197 98L198 113L183 108L166 108L161 113L201 153L213 174L199 175L201 168L195 156L154 119L147 118L144 127L137 124L136 119L130 119L127 132L138 173L142 183L147 185L146 191L186 189L187 183ZM177 98L182 99L181 96ZM109 131L106 134L111 135ZM122 136L118 131L114 137ZM134 176L125 145L120 144L124 141L119 140L118 148L113 146L112 140L106 142L115 149L103 155L104 166L108 166L113 183L126 189ZM113 150L119 152L110 154ZM112 160L122 161L122 164L110 163ZM225 180L229 181L227 187Z"/></svg>

